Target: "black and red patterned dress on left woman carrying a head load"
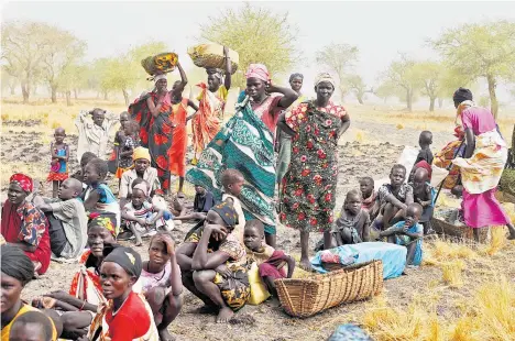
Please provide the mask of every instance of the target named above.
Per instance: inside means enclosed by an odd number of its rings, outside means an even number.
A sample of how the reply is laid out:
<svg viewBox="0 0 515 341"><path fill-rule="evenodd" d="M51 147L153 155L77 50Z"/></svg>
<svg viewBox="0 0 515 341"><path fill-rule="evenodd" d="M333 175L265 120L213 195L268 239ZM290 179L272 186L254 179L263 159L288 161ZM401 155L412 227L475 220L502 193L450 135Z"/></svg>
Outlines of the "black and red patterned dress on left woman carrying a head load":
<svg viewBox="0 0 515 341"><path fill-rule="evenodd" d="M149 148L151 154L151 165L157 169L161 188L169 188L169 161L173 140L173 123L171 95L166 92L160 114L154 118L150 112L146 99L151 97L154 105L157 103L157 94L149 92L129 106L129 113L132 120L140 123L141 145Z"/></svg>

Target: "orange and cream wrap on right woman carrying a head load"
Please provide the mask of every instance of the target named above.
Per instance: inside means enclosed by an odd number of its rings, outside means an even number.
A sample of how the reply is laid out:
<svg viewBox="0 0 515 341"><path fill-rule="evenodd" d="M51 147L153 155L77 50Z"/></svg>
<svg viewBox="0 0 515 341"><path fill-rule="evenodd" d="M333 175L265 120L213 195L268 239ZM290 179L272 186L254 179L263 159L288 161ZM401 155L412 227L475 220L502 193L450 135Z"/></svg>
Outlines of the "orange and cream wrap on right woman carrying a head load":
<svg viewBox="0 0 515 341"><path fill-rule="evenodd" d="M201 92L197 97L199 101L198 113L191 120L195 152L194 164L200 157L200 153L206 145L220 131L227 96L229 94L224 86L220 86L217 92L209 91L205 82L200 82L197 86L201 89Z"/></svg>

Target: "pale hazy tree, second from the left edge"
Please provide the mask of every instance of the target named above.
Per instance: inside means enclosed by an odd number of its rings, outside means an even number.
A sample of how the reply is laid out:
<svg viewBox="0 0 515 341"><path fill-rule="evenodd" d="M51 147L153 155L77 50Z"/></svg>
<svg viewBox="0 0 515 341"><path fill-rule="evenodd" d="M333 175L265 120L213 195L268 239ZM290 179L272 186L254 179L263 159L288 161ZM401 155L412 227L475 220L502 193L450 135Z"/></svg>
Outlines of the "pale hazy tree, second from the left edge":
<svg viewBox="0 0 515 341"><path fill-rule="evenodd" d="M48 45L43 58L43 77L48 84L51 90L52 102L57 102L57 89L59 85L68 84L73 75L65 75L74 69L74 65L84 56L86 43L78 40L72 33L61 30L55 26L42 28L47 36ZM62 80L61 77L67 79ZM64 92L69 105L70 89L64 89Z"/></svg>

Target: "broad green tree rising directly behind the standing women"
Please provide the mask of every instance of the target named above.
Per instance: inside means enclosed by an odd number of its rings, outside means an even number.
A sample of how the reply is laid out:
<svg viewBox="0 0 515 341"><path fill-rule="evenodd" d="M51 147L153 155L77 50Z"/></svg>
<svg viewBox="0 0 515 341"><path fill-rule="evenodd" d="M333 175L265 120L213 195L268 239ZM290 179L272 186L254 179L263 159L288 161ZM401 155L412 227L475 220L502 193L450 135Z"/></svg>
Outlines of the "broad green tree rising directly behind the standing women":
<svg viewBox="0 0 515 341"><path fill-rule="evenodd" d="M200 26L198 41L210 41L238 52L240 61L233 82L241 88L245 87L244 73L250 64L262 63L275 75L286 72L298 59L297 30L289 24L287 13L274 14L245 2L242 9L226 10L208 22Z"/></svg>

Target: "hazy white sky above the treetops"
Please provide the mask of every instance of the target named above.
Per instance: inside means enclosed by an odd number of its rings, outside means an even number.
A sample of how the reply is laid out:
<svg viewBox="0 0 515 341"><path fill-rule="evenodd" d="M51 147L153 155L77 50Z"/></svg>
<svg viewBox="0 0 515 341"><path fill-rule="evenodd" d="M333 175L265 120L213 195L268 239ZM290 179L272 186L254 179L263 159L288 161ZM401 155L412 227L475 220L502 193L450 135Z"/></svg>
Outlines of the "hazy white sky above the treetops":
<svg viewBox="0 0 515 341"><path fill-rule="evenodd" d="M298 46L305 62L291 72L306 75L306 85L320 70L314 55L335 43L357 45L360 62L357 70L374 85L381 72L405 52L417 58L436 57L425 40L437 37L447 28L465 22L515 21L515 2L252 2L274 12L288 12L298 26ZM186 55L195 44L199 25L224 8L238 2L94 2L37 1L9 2L2 20L37 20L74 32L88 44L87 58L116 56L149 38L164 41L178 53L183 65L193 65ZM304 64L304 65L303 65Z"/></svg>

